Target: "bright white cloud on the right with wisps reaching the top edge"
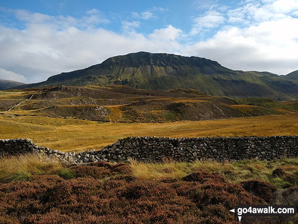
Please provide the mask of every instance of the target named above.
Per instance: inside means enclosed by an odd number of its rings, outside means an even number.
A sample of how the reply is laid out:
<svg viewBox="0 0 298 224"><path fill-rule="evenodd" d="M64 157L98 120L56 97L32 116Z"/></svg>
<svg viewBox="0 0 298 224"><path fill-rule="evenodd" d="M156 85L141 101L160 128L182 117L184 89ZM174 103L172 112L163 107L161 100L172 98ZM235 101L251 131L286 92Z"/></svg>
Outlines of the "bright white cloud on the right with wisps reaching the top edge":
<svg viewBox="0 0 298 224"><path fill-rule="evenodd" d="M237 70L287 74L298 69L297 11L297 0L246 0L220 13L213 7L196 18L191 35L221 25L219 31L189 44L182 54L211 58ZM221 24L219 17L227 20Z"/></svg>

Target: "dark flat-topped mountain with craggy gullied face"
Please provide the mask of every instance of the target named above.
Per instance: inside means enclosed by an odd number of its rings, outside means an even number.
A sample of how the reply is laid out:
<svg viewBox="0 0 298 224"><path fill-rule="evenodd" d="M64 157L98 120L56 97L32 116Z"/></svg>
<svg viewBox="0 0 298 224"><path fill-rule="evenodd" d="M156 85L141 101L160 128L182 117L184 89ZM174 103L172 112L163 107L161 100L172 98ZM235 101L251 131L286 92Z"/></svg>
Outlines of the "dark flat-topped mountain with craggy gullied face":
<svg viewBox="0 0 298 224"><path fill-rule="evenodd" d="M298 98L298 79L269 72L234 71L201 57L138 52L110 57L98 65L61 73L18 88L58 85L128 85L141 89L193 88L210 95L274 100Z"/></svg>

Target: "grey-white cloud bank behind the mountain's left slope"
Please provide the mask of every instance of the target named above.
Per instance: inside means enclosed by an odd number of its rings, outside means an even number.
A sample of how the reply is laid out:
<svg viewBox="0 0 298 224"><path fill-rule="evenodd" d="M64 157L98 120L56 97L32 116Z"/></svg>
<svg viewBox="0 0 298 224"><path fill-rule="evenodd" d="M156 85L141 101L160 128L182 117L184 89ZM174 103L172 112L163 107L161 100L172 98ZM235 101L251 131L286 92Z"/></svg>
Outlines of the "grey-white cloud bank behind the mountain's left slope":
<svg viewBox="0 0 298 224"><path fill-rule="evenodd" d="M26 20L24 29L0 26L0 68L21 74L28 82L44 81L51 75L86 68L119 54L177 53L181 48L175 40L180 31L173 26L145 36L134 30L139 22L122 22L127 29L117 34L92 25L83 27L82 19L65 22L66 17L21 14Z"/></svg>

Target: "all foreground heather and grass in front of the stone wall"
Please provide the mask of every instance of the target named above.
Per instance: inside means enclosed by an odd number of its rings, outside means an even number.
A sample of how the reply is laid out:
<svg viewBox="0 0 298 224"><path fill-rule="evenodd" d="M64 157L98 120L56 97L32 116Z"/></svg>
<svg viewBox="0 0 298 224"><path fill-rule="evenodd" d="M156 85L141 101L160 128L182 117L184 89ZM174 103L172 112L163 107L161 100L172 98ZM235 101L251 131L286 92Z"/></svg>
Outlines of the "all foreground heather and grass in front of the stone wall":
<svg viewBox="0 0 298 224"><path fill-rule="evenodd" d="M65 165L38 155L3 158L0 223L236 224L229 210L238 194L243 204L293 204L297 171L297 159Z"/></svg>

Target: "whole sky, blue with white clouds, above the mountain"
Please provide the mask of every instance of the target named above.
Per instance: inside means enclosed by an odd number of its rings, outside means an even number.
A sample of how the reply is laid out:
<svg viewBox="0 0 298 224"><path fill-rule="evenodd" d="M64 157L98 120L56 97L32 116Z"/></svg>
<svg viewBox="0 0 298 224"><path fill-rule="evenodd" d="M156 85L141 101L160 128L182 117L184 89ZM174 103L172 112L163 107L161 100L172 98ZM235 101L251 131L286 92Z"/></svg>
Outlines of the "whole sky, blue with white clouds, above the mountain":
<svg viewBox="0 0 298 224"><path fill-rule="evenodd" d="M40 82L131 52L298 70L298 0L0 0L0 79Z"/></svg>

